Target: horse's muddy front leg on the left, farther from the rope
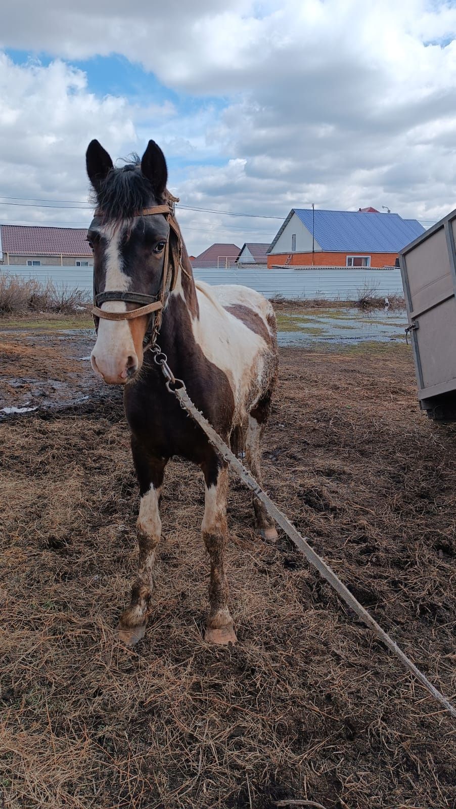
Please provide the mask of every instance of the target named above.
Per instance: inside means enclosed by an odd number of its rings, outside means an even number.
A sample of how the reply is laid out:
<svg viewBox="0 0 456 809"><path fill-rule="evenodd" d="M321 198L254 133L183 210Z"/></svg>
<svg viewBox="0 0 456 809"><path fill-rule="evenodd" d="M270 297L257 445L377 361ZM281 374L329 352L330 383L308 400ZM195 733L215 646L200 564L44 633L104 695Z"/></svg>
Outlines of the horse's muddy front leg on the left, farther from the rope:
<svg viewBox="0 0 456 809"><path fill-rule="evenodd" d="M156 548L162 534L158 498L167 459L150 456L132 437L133 462L139 482L141 503L137 519L139 560L131 603L120 617L117 633L127 646L134 646L146 632L146 615L155 584Z"/></svg>

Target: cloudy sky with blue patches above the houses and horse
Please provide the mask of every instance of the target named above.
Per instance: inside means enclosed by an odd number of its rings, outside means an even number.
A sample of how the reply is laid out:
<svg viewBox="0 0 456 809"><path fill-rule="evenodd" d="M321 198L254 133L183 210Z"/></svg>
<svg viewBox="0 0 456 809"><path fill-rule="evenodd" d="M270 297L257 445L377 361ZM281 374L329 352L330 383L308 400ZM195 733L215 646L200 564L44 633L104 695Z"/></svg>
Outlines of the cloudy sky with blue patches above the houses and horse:
<svg viewBox="0 0 456 809"><path fill-rule="evenodd" d="M6 4L0 222L86 227L92 138L158 142L193 255L311 203L429 225L456 206L456 0Z"/></svg>

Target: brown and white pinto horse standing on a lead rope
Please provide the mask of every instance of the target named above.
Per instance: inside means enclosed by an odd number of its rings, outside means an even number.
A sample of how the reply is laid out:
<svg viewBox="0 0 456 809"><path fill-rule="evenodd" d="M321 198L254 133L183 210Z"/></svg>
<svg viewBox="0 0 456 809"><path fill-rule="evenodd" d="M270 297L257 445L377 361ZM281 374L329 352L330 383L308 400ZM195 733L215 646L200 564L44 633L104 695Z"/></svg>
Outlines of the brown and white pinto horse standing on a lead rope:
<svg viewBox="0 0 456 809"><path fill-rule="evenodd" d="M167 356L176 378L213 428L242 446L261 484L260 446L277 379L277 327L271 303L240 285L195 281L167 191L167 163L152 140L141 159L114 167L103 146L87 148L87 175L96 210L87 231L94 254L92 310L97 336L91 366L122 385L140 490L139 561L118 637L133 646L146 632L156 580L162 523L160 489L168 460L199 466L205 481L202 538L210 560L205 641L236 642L228 607L228 468L168 391L154 352ZM138 304L140 304L138 306ZM254 496L256 532L277 539L275 523Z"/></svg>

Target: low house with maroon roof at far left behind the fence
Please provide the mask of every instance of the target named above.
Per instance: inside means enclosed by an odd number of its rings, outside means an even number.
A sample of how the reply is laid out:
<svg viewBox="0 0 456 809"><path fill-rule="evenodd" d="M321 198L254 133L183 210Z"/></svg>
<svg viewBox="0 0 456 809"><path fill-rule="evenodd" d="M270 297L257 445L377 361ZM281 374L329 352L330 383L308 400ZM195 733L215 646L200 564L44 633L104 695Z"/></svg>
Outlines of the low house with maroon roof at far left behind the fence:
<svg viewBox="0 0 456 809"><path fill-rule="evenodd" d="M92 267L85 227L0 225L0 263Z"/></svg>

